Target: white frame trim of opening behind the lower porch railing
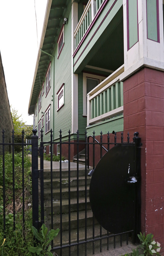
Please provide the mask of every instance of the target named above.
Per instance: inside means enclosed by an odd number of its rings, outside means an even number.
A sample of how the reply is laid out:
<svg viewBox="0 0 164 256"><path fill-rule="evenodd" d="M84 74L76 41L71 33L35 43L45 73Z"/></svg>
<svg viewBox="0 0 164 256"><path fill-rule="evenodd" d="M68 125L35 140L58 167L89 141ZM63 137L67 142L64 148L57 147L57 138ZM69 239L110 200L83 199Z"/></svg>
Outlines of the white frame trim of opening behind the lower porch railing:
<svg viewBox="0 0 164 256"><path fill-rule="evenodd" d="M101 83L106 77L83 73L83 116L87 116L87 78L97 79L99 80L99 83Z"/></svg>

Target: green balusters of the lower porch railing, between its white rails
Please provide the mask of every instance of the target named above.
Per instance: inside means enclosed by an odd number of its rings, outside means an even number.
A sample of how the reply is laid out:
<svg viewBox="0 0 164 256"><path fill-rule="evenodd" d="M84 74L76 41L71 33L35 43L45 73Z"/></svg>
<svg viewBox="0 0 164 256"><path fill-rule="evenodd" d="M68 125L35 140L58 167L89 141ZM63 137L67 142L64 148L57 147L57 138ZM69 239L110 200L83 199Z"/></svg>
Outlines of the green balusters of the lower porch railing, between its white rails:
<svg viewBox="0 0 164 256"><path fill-rule="evenodd" d="M91 119L123 106L123 82L117 82L90 100ZM116 111L117 115L117 111Z"/></svg>

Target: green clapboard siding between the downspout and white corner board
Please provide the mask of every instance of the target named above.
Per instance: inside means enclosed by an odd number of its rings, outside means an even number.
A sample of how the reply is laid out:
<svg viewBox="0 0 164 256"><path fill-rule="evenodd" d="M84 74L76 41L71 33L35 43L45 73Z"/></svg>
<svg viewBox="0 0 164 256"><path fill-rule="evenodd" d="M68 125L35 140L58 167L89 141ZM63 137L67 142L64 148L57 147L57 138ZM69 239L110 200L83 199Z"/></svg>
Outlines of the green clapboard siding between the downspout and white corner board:
<svg viewBox="0 0 164 256"><path fill-rule="evenodd" d="M67 25L64 26L64 47L57 59L57 44L55 48L55 86L54 86L54 139L68 135L72 123L72 79L71 79L71 12ZM57 111L57 92L64 83L64 106Z"/></svg>

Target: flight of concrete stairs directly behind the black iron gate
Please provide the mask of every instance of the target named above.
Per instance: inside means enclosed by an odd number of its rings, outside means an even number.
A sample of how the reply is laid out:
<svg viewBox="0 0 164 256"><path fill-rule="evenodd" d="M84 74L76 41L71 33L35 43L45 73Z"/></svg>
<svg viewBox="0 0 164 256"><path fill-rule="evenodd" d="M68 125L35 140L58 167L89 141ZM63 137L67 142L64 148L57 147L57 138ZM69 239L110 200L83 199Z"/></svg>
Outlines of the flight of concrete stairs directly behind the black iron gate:
<svg viewBox="0 0 164 256"><path fill-rule="evenodd" d="M87 170L87 173L89 170ZM60 171L53 170L53 228L60 229ZM90 178L87 176L87 239L93 237L93 214L89 202ZM71 243L77 242L77 170L71 170ZM44 206L45 223L51 229L51 173L44 170ZM85 240L85 170L79 170L79 241ZM69 222L68 222L68 170L62 169L62 244L69 241ZM100 236L100 225L95 220L95 237ZM107 231L102 228L102 235ZM106 239L105 239L106 240ZM54 239L54 246L60 246L60 232ZM100 244L100 241L99 241ZM87 244L87 247L92 243ZM79 250L84 250L85 245L79 246ZM71 247L71 255L75 253L77 246ZM55 251L60 255L60 250ZM76 254L76 253L75 253ZM56 254L55 254L56 255ZM62 249L62 255L69 255L68 248ZM80 254L79 254L80 255ZM84 251L82 253L84 255Z"/></svg>

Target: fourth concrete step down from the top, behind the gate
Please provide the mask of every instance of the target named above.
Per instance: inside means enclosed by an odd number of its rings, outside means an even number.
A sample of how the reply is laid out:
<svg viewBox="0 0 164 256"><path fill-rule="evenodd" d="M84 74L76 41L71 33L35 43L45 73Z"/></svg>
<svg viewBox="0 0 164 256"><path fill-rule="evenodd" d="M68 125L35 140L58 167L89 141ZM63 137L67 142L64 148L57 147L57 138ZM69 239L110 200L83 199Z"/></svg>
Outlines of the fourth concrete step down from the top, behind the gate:
<svg viewBox="0 0 164 256"><path fill-rule="evenodd" d="M45 201L44 203L45 211L48 214L51 214L51 201ZM83 211L85 209L85 197L79 198L79 211ZM87 197L87 210L90 210L90 201L89 197ZM77 211L77 199L71 198L71 212ZM53 212L54 215L60 214L60 200L53 201ZM68 213L68 199L62 200L62 213Z"/></svg>

